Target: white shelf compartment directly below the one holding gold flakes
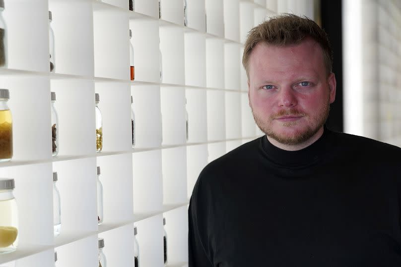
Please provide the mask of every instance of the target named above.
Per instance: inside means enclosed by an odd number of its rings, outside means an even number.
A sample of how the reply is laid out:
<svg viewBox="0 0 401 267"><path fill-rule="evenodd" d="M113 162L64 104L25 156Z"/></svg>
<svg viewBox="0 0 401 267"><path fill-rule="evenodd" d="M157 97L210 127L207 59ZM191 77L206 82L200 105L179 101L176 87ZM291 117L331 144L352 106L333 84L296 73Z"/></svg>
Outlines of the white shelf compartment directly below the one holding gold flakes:
<svg viewBox="0 0 401 267"><path fill-rule="evenodd" d="M100 181L103 185L104 220L106 225L119 225L134 218L133 202L133 156L121 154L97 157Z"/></svg>

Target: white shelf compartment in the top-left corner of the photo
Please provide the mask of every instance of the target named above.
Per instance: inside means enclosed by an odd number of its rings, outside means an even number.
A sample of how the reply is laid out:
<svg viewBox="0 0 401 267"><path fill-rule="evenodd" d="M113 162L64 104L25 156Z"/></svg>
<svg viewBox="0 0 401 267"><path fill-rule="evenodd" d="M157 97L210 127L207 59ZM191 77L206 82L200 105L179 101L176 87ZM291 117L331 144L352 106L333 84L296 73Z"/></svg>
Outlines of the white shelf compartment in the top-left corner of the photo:
<svg viewBox="0 0 401 267"><path fill-rule="evenodd" d="M50 71L47 1L6 1L8 67ZM29 44L27 44L29 40Z"/></svg>

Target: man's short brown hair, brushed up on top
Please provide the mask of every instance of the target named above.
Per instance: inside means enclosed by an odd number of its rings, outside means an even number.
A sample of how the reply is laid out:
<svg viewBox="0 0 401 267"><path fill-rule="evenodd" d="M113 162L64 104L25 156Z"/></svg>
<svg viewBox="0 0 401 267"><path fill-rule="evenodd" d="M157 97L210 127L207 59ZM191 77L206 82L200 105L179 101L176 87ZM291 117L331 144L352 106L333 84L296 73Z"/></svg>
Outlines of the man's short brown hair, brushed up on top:
<svg viewBox="0 0 401 267"><path fill-rule="evenodd" d="M327 33L312 19L282 13L270 17L249 31L244 46L242 64L249 80L249 58L259 43L273 46L288 46L301 43L305 38L316 41L323 50L323 58L329 75L333 69L333 50Z"/></svg>

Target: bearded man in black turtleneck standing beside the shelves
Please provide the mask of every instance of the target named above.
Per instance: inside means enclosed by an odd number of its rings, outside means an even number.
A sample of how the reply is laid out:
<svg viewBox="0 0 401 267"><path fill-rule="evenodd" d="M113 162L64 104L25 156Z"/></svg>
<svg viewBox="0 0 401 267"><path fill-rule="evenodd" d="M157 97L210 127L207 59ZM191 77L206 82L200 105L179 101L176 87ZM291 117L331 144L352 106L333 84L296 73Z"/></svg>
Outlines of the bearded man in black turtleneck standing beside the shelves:
<svg viewBox="0 0 401 267"><path fill-rule="evenodd" d="M190 267L401 266L401 149L326 127L332 61L308 18L284 14L251 30L243 65L266 135L202 170Z"/></svg>

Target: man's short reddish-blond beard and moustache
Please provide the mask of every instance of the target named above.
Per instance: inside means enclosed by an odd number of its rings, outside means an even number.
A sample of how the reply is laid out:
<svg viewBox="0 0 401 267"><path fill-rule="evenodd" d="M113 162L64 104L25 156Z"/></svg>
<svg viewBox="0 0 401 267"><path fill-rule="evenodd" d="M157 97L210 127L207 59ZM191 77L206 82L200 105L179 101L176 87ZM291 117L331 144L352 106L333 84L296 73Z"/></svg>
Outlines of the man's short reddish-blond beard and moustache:
<svg viewBox="0 0 401 267"><path fill-rule="evenodd" d="M266 119L254 112L252 105L251 109L255 122L258 125L259 129L261 129L261 131L264 132L268 137L284 145L298 145L312 138L326 123L330 112L330 102L328 100L326 103L324 103L322 107L320 107L317 115L312 117L311 124L306 125L306 127L301 130L294 131L292 134L279 133L278 131L274 131L271 127L269 127L269 125L273 123L273 120L277 117L290 115L308 117L307 113L301 112L296 109L281 110L275 114L270 115L266 121ZM292 127L297 124L299 124L298 121L282 122L281 127Z"/></svg>

